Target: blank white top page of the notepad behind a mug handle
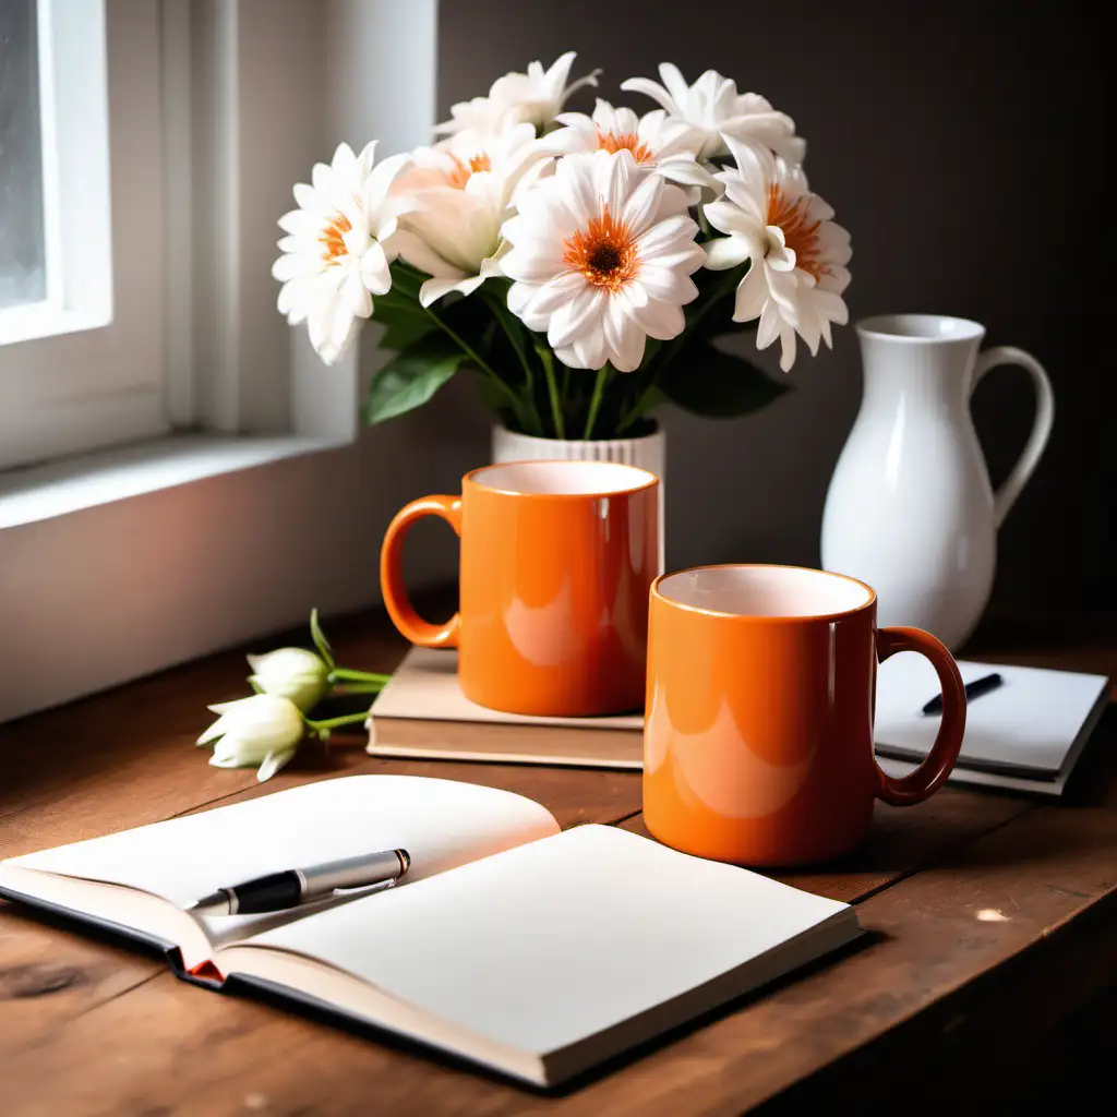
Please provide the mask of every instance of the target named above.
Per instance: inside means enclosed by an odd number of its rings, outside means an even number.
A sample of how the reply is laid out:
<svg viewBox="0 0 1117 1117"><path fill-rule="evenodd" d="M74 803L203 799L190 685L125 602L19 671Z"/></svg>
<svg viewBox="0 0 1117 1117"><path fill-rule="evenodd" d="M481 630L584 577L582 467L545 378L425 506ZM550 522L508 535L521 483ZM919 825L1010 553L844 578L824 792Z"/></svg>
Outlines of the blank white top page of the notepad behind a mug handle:
<svg viewBox="0 0 1117 1117"><path fill-rule="evenodd" d="M1018 764L1054 773L1097 705L1108 680L1100 675L1002 667L958 660L964 682L993 671L1004 685L981 695L966 710L961 763ZM922 656L894 656L877 679L876 739L879 745L927 752L939 719L922 714L939 693L934 668Z"/></svg>

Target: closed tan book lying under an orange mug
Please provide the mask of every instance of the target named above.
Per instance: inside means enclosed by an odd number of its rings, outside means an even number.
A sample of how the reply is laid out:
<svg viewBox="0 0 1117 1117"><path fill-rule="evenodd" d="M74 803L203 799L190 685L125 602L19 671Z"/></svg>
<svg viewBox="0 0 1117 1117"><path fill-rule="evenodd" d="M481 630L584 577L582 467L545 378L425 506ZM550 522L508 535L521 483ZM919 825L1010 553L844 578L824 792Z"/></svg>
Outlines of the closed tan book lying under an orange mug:
<svg viewBox="0 0 1117 1117"><path fill-rule="evenodd" d="M412 648L369 715L373 756L490 763L643 766L643 714L527 717L471 703L458 684L458 653Z"/></svg>

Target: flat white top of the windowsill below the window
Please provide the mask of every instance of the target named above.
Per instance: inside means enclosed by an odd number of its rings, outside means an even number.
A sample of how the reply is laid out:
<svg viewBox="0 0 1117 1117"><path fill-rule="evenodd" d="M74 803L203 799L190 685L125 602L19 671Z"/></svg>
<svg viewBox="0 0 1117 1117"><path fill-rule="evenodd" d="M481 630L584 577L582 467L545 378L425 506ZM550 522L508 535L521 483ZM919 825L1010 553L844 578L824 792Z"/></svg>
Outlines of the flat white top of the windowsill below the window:
<svg viewBox="0 0 1117 1117"><path fill-rule="evenodd" d="M12 469L0 472L0 531L344 445L294 435L172 435Z"/></svg>

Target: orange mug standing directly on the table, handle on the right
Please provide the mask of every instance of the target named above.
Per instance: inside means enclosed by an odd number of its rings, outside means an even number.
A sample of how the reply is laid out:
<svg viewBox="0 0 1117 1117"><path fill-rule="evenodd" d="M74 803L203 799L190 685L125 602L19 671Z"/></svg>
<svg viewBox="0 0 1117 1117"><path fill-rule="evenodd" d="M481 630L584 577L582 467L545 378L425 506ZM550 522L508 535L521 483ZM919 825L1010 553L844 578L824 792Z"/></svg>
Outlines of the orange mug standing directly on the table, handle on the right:
<svg viewBox="0 0 1117 1117"><path fill-rule="evenodd" d="M872 752L877 661L918 651L943 720L901 780ZM662 842L745 865L803 865L860 843L872 803L918 803L949 775L962 677L920 629L877 628L861 582L796 566L699 566L651 588L643 817Z"/></svg>

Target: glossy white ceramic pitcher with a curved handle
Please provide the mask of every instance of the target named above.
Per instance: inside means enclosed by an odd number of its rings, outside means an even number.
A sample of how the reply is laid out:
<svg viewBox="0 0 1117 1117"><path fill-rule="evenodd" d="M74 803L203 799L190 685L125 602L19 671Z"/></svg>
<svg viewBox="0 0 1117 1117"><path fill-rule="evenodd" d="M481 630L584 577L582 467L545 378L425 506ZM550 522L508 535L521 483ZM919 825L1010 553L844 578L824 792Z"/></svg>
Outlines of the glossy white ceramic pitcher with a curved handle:
<svg viewBox="0 0 1117 1117"><path fill-rule="evenodd" d="M983 326L894 314L857 326L865 397L822 516L822 565L877 591L878 623L913 624L956 648L989 601L996 529L1028 483L1054 418L1051 383L1018 349L978 355ZM1035 385L1035 422L993 493L970 416L977 382L1018 364Z"/></svg>

